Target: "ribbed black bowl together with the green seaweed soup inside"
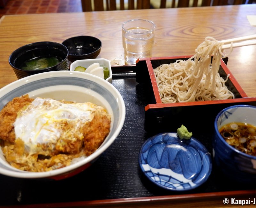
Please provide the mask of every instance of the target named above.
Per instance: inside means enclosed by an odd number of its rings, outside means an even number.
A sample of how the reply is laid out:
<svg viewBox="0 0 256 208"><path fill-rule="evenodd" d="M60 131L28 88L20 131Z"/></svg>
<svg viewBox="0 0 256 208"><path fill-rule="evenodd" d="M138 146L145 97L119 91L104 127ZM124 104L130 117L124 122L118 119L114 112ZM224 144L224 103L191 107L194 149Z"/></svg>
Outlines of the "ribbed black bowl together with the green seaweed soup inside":
<svg viewBox="0 0 256 208"><path fill-rule="evenodd" d="M42 72L68 70L68 49L56 42L36 42L21 46L9 57L18 79Z"/></svg>

